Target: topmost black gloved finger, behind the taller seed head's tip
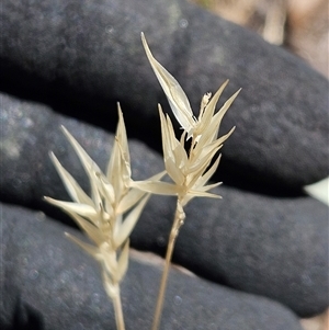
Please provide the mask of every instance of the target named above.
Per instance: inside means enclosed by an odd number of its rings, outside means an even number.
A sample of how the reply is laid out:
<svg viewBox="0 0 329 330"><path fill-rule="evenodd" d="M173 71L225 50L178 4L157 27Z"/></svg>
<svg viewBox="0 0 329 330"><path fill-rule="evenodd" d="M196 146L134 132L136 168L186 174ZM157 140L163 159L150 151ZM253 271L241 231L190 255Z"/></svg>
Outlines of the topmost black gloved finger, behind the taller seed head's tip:
<svg viewBox="0 0 329 330"><path fill-rule="evenodd" d="M120 101L128 132L159 146L157 103L167 101L144 31L194 109L227 78L224 98L243 89L223 123L223 132L237 125L220 168L227 183L287 192L328 175L328 80L183 0L4 1L1 30L2 91L110 129Z"/></svg>

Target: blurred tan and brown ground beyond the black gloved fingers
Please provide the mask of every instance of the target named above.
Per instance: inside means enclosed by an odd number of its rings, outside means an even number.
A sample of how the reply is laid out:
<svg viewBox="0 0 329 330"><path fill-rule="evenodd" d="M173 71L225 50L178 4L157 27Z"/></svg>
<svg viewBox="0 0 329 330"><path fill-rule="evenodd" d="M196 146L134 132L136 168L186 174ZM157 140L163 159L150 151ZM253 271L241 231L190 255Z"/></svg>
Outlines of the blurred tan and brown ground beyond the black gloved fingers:
<svg viewBox="0 0 329 330"><path fill-rule="evenodd" d="M327 0L191 0L222 18L251 29L329 77L329 2ZM328 185L328 184L327 184ZM328 192L327 192L328 194ZM303 319L307 330L329 329L329 310Z"/></svg>

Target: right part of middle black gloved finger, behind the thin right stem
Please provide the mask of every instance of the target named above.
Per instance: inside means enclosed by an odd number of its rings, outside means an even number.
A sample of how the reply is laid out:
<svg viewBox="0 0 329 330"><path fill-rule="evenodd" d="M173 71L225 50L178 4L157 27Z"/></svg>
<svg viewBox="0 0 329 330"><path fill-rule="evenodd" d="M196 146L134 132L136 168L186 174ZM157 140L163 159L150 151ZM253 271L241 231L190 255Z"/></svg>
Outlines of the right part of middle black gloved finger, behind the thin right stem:
<svg viewBox="0 0 329 330"><path fill-rule="evenodd" d="M303 317L328 298L328 207L310 197L276 198L222 186L223 200L186 207L174 262L200 276L264 295ZM174 201L152 197L132 236L138 249L164 252ZM166 235L167 232L167 235Z"/></svg>

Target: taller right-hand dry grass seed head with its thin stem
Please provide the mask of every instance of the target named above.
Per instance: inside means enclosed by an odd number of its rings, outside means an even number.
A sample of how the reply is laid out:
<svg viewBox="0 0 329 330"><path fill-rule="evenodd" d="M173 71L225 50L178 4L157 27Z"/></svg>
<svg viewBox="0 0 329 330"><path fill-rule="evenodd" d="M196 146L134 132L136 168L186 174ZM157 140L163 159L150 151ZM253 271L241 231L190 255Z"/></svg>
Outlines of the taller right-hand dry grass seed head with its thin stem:
<svg viewBox="0 0 329 330"><path fill-rule="evenodd" d="M134 186L149 193L177 196L177 210L169 236L166 263L152 323L152 330L157 330L160 326L167 278L175 239L185 219L184 206L194 197L220 197L208 192L220 183L207 184L207 182L219 164L219 149L235 129L232 127L226 135L218 137L220 122L240 90L230 96L216 113L217 101L228 81L222 84L213 98L211 93L205 94L202 98L200 114L196 118L183 89L172 75L155 59L143 33L141 42L147 58L167 95L172 113L183 128L183 134L178 139L170 117L168 114L163 114L159 105L164 167L173 182L157 182L155 180L133 182ZM188 152L185 150L185 140L190 138L192 141Z"/></svg>

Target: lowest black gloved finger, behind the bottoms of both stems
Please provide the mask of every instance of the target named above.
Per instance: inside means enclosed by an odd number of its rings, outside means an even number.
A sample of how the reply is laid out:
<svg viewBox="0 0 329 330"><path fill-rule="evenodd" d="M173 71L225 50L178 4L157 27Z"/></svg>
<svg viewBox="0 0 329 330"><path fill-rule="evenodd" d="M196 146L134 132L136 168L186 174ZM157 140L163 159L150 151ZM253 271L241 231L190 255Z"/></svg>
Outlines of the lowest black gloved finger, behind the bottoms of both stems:
<svg viewBox="0 0 329 330"><path fill-rule="evenodd" d="M67 240L75 230L31 212L0 205L3 330L115 329L95 261ZM73 232L79 236L78 232ZM160 270L131 260L122 284L126 329L149 329ZM171 270L163 329L302 330L288 309Z"/></svg>

